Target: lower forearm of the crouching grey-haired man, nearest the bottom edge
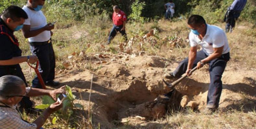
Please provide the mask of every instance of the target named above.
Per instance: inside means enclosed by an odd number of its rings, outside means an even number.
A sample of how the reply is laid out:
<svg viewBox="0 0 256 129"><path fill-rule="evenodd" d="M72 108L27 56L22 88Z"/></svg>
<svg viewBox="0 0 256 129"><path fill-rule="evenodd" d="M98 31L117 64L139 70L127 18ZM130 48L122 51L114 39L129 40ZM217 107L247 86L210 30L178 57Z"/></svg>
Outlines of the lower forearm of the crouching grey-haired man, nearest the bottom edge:
<svg viewBox="0 0 256 129"><path fill-rule="evenodd" d="M45 123L47 118L52 114L50 108L47 108L33 123L37 125L37 129L40 129Z"/></svg>

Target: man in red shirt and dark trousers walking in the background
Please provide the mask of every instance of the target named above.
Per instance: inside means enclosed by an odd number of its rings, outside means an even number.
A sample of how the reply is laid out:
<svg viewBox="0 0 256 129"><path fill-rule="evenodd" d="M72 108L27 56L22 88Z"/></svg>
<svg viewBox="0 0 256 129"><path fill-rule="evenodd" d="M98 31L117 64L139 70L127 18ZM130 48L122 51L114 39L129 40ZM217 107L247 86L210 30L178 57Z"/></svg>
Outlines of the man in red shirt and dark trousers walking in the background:
<svg viewBox="0 0 256 129"><path fill-rule="evenodd" d="M126 20L127 20L126 15L122 10L120 10L120 8L117 5L115 5L113 7L113 10L114 10L114 13L112 16L112 20L113 20L114 25L110 32L107 44L111 43L111 40L116 36L116 33L118 31L124 37L125 42L127 42L127 35L125 33L125 24L126 24Z"/></svg>

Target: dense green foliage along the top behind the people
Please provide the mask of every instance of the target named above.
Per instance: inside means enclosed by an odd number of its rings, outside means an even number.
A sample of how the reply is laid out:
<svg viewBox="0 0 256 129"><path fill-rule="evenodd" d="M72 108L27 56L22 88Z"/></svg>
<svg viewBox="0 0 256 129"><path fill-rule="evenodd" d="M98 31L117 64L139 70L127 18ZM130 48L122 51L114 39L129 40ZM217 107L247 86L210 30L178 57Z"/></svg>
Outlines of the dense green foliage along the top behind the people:
<svg viewBox="0 0 256 129"><path fill-rule="evenodd" d="M9 5L22 6L27 0L3 0L0 1L0 12ZM127 15L134 14L132 5L134 2L145 3L142 8L142 17L162 17L165 13L164 4L169 0L46 0L43 10L51 20L77 20L84 21L88 15L98 15L107 12L112 14L112 6L119 5ZM178 0L175 3L175 17L191 14L203 15L210 23L222 21L227 7L233 0ZM139 4L138 3L138 4ZM248 0L240 19L255 23L256 1ZM136 13L135 13L136 14Z"/></svg>

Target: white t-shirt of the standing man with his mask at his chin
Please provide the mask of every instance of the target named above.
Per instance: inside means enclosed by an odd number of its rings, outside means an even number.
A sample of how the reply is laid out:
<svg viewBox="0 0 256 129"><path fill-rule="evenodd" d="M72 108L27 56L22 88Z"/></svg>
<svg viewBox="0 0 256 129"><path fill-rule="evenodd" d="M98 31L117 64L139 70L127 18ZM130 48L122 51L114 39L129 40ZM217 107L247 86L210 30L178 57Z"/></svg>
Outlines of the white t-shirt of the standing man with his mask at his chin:
<svg viewBox="0 0 256 129"><path fill-rule="evenodd" d="M34 11L29 9L26 5L22 8L28 15L28 19L25 20L24 25L30 25L30 31L37 30L47 25L46 17L43 12ZM29 42L45 42L51 38L50 31L43 31L39 35L29 38Z"/></svg>

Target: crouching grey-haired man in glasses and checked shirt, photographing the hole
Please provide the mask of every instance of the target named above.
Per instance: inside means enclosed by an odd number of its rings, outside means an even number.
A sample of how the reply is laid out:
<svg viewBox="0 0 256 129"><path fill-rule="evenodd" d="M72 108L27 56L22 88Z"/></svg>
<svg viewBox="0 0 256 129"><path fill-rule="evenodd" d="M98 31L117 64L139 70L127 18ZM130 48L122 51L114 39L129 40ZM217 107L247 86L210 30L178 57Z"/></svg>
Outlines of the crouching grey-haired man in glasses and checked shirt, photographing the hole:
<svg viewBox="0 0 256 129"><path fill-rule="evenodd" d="M22 119L17 104L25 96L50 95L56 100L56 94L65 93L65 86L56 90L44 90L26 87L24 81L14 75L0 77L0 129L42 129L46 119L62 107L61 102L51 104L32 124Z"/></svg>

